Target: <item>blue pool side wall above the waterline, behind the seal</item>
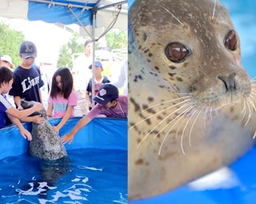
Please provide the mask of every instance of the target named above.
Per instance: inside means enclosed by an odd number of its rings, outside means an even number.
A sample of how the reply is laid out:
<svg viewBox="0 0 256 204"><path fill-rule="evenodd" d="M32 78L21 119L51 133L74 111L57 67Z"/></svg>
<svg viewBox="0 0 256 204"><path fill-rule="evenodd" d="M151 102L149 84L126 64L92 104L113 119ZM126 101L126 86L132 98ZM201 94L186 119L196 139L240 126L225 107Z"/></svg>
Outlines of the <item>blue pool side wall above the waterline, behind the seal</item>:
<svg viewBox="0 0 256 204"><path fill-rule="evenodd" d="M59 132L65 135L71 131L81 117L74 117L67 121ZM49 120L50 124L56 125L60 119ZM26 123L24 127L31 131L31 124ZM29 141L23 139L18 128L11 125L0 130L0 159L10 155L21 155L28 150ZM71 144L66 143L66 150L78 148L101 148L101 149L122 149L127 150L127 120L95 118L86 127L78 131Z"/></svg>

